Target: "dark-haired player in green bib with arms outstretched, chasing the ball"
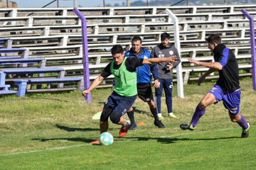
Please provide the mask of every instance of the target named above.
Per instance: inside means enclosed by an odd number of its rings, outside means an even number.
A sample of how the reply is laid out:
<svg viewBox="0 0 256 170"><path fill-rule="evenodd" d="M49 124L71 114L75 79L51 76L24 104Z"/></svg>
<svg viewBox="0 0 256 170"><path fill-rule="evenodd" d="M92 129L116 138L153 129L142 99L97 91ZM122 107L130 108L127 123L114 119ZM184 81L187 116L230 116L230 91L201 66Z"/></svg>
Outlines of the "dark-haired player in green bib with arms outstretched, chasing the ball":
<svg viewBox="0 0 256 170"><path fill-rule="evenodd" d="M129 108L137 98L137 72L136 68L142 64L154 64L158 62L174 62L176 56L164 58L139 59L137 57L124 57L124 50L121 45L114 45L111 49L113 61L107 64L104 71L97 77L88 89L82 91L82 95L90 93L95 89L103 79L111 74L114 75L114 90L107 98L107 102L103 107L100 115L100 133L107 132L108 118L117 125L122 125L119 130L119 136L127 134L131 123L125 120L122 115L129 111ZM91 142L92 144L100 144L100 140Z"/></svg>

